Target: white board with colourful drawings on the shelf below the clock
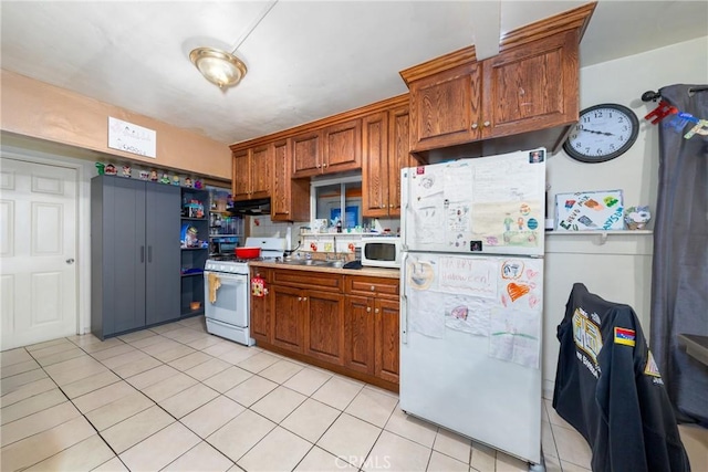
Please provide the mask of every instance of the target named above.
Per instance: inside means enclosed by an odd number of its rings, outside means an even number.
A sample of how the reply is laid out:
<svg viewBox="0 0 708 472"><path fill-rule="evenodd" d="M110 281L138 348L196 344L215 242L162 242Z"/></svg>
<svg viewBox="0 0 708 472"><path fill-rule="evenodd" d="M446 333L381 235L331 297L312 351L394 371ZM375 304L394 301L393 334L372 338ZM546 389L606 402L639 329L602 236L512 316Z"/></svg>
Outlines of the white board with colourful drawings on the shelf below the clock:
<svg viewBox="0 0 708 472"><path fill-rule="evenodd" d="M624 230L622 190L594 190L555 196L556 231Z"/></svg>

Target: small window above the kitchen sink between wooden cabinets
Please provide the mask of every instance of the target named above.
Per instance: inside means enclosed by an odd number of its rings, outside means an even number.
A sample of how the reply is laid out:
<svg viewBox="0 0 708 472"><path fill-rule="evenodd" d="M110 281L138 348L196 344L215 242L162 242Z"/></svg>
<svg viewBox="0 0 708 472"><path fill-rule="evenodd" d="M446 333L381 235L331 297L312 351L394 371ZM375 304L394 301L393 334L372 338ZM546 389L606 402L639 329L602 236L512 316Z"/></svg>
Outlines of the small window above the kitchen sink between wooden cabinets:
<svg viewBox="0 0 708 472"><path fill-rule="evenodd" d="M364 225L361 176L312 181L311 199L314 218L326 219L330 225L341 220L342 229Z"/></svg>

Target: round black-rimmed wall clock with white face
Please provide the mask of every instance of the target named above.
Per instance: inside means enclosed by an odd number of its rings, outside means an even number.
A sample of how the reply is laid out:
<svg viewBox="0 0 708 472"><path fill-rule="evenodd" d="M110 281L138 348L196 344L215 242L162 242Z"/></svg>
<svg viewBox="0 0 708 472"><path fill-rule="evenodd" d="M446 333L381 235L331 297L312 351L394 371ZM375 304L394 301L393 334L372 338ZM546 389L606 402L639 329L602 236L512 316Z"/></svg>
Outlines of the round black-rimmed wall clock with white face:
<svg viewBox="0 0 708 472"><path fill-rule="evenodd" d="M632 109L604 103L580 112L563 149L581 162L604 162L626 153L638 133L639 120Z"/></svg>

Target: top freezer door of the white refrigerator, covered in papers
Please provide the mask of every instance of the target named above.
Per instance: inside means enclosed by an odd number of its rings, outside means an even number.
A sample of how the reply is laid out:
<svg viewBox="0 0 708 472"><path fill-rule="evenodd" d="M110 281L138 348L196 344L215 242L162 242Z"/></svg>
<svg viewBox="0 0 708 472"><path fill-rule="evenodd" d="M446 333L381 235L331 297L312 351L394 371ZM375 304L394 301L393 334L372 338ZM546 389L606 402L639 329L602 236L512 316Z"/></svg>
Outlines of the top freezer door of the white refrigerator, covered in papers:
<svg viewBox="0 0 708 472"><path fill-rule="evenodd" d="M544 156L534 149L403 169L404 248L542 255Z"/></svg>

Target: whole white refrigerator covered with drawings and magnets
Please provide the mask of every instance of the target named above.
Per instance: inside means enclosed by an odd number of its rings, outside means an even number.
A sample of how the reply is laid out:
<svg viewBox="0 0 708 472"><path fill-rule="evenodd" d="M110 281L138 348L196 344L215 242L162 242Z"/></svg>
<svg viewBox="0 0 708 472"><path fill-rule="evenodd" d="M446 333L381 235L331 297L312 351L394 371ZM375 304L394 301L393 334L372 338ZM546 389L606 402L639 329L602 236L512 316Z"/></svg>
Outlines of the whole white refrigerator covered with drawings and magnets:
<svg viewBox="0 0 708 472"><path fill-rule="evenodd" d="M400 408L537 464L545 157L402 170Z"/></svg>

